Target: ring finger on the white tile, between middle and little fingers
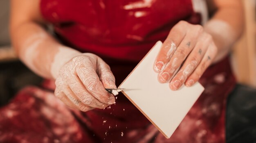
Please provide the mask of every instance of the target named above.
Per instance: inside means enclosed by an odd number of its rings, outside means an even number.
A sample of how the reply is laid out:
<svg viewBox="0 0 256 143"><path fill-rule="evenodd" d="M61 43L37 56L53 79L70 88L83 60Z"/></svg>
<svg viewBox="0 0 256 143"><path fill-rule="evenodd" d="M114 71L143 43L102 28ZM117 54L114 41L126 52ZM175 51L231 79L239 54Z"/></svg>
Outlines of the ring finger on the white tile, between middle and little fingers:
<svg viewBox="0 0 256 143"><path fill-rule="evenodd" d="M188 76L192 74L192 72L202 60L211 40L211 37L207 33L203 33L198 38L198 42L196 43L189 56L186 58L186 61L182 65L181 69L171 80L169 86L172 90L179 89L181 85L184 84Z"/></svg>

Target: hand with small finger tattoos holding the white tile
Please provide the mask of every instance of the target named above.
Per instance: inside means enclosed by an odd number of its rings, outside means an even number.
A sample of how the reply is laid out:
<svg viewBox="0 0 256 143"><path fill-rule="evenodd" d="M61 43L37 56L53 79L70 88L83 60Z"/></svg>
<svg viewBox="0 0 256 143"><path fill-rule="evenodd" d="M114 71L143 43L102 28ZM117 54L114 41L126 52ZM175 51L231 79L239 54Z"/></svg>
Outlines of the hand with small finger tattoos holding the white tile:
<svg viewBox="0 0 256 143"><path fill-rule="evenodd" d="M217 51L213 38L202 26L180 21L172 28L156 58L154 69L159 72L159 82L170 82L172 90L179 89L183 83L192 86L211 65Z"/></svg>

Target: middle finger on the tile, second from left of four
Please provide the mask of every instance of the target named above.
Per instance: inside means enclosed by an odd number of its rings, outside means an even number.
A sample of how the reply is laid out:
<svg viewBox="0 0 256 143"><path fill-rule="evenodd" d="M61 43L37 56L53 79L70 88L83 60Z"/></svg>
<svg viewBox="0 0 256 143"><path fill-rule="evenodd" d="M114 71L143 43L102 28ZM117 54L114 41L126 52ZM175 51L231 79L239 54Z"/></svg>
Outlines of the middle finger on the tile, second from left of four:
<svg viewBox="0 0 256 143"><path fill-rule="evenodd" d="M171 57L169 63L166 65L163 71L159 73L158 79L160 82L168 82L173 77L174 72L178 69L178 67L180 67L180 65L182 65L183 61L194 48L199 35L195 34L195 31L198 30L194 28L186 34L186 36L178 46L177 50Z"/></svg>

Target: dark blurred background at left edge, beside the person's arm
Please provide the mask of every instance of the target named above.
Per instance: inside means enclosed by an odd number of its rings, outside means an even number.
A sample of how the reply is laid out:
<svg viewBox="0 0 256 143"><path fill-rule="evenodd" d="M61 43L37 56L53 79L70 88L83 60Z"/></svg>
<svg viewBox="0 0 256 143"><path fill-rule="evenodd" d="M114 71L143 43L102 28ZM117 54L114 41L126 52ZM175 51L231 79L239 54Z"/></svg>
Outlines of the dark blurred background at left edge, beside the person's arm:
<svg viewBox="0 0 256 143"><path fill-rule="evenodd" d="M0 0L0 106L26 85L39 85L42 79L23 65L11 49L9 0Z"/></svg>

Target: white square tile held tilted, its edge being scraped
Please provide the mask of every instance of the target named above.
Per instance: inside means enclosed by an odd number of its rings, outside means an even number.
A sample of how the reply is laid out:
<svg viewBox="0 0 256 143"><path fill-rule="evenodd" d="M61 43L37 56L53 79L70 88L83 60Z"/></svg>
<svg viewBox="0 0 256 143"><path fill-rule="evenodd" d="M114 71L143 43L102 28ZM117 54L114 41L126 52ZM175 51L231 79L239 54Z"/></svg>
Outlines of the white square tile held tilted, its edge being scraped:
<svg viewBox="0 0 256 143"><path fill-rule="evenodd" d="M170 138L204 87L196 83L193 87L183 85L180 90L171 91L168 84L159 83L153 64L161 45L158 41L119 88L124 88L124 95L166 138Z"/></svg>

